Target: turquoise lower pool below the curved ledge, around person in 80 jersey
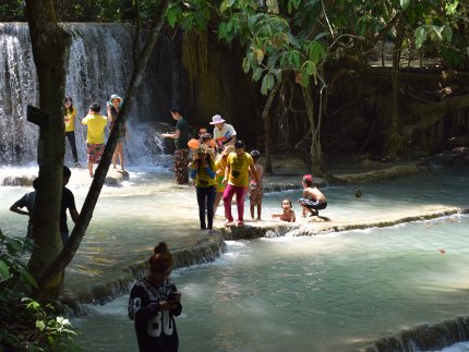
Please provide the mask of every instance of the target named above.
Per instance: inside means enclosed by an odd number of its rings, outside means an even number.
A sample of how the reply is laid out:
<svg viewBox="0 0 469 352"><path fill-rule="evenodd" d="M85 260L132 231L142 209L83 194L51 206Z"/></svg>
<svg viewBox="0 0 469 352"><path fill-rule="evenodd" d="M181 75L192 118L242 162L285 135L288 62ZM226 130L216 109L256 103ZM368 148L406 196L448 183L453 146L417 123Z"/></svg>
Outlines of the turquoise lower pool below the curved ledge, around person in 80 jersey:
<svg viewBox="0 0 469 352"><path fill-rule="evenodd" d="M346 351L468 314L468 224L229 242L215 263L173 274L181 351ZM74 321L89 351L135 350L127 296L91 308Z"/></svg>

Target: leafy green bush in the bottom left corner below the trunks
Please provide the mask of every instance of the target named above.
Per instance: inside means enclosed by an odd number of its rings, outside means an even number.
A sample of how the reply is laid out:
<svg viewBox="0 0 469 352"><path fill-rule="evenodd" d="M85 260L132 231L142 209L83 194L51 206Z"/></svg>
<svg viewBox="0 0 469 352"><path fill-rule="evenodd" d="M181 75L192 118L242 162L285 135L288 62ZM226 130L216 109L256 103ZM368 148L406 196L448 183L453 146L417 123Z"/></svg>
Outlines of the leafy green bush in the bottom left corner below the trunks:
<svg viewBox="0 0 469 352"><path fill-rule="evenodd" d="M32 247L31 241L0 231L0 347L4 351L82 351L70 321L57 316L59 304L43 305L26 296L37 287L23 259Z"/></svg>

